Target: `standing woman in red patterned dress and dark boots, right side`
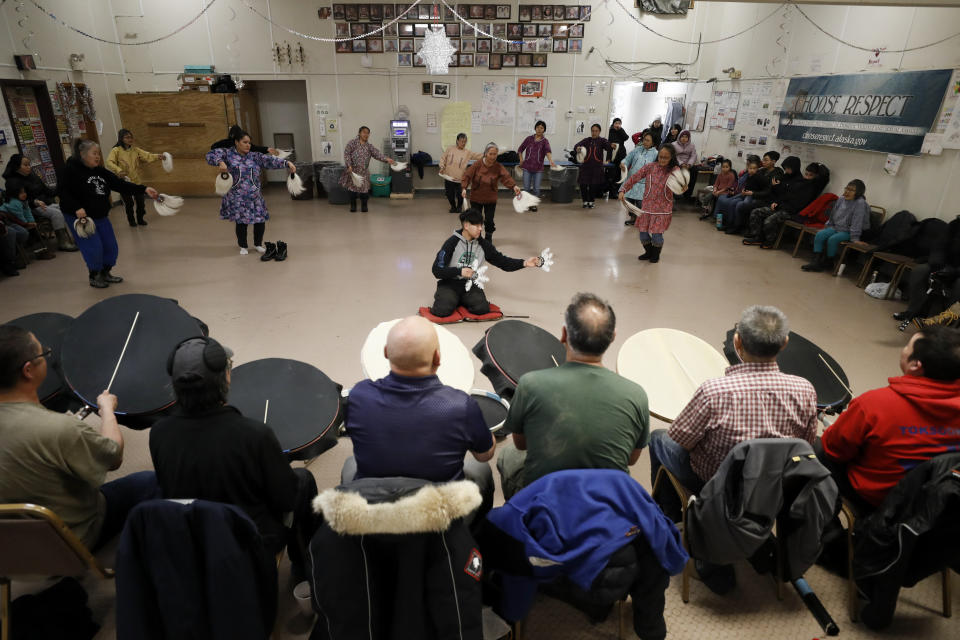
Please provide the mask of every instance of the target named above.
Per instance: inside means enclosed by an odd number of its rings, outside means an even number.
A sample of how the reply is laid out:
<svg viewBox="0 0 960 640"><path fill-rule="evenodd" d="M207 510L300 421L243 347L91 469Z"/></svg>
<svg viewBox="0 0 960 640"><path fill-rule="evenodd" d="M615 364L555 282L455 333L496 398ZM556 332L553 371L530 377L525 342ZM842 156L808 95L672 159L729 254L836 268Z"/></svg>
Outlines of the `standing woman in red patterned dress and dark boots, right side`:
<svg viewBox="0 0 960 640"><path fill-rule="evenodd" d="M640 260L660 261L663 250L663 233L670 228L673 217L673 192L667 188L667 178L679 166L677 152L671 145L660 147L657 161L640 167L620 187L620 201L633 185L646 179L643 192L643 206L637 216L635 226L640 230L640 242L643 243L643 255Z"/></svg>

